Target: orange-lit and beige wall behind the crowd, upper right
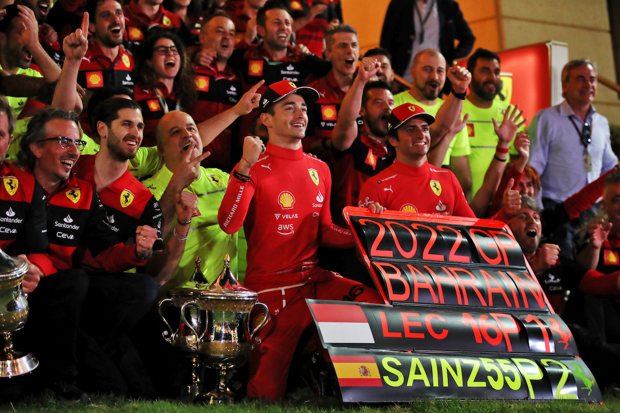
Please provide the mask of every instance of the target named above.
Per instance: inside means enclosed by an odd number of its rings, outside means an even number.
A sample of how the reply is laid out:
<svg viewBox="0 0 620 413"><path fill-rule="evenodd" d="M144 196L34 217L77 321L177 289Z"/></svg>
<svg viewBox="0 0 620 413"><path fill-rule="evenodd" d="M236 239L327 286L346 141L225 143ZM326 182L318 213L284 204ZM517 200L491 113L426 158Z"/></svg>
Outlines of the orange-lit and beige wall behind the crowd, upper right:
<svg viewBox="0 0 620 413"><path fill-rule="evenodd" d="M612 81L614 69L606 0L457 0L477 37L477 47L494 51L557 40L569 59L587 57ZM379 43L389 0L342 0L344 19L360 32L362 50ZM515 85L518 87L518 85ZM620 123L620 100L599 85L596 109Z"/></svg>

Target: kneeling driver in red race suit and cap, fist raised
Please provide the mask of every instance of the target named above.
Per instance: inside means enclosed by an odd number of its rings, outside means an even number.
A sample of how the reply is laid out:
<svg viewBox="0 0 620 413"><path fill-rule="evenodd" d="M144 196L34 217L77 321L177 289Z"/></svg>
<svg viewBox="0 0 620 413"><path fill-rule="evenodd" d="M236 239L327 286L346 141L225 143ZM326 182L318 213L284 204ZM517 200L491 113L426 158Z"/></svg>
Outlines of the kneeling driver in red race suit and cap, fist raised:
<svg viewBox="0 0 620 413"><path fill-rule="evenodd" d="M317 265L319 244L353 246L350 231L332 223L331 177L327 165L303 153L301 148L308 124L304 98L316 102L318 97L311 87L296 87L289 81L276 82L267 88L260 99L260 112L261 119L270 118L268 124L263 120L270 143L252 166L244 159L257 159L260 148L252 158L246 147L261 143L257 137L246 138L244 158L231 174L218 211L219 226L224 232L234 233L244 225L245 284L257 291L259 301L269 308L270 321L259 332L262 343L250 354L249 397L281 399L285 396L286 378L299 337L306 327L314 324L306 298L383 304L379 294L368 286ZM280 100L283 103L277 104ZM288 103L290 100L298 103ZM274 111L281 111L277 115L265 113L272 104ZM288 116L286 125L303 122L303 128L295 127L299 133L296 141L294 138L284 141L294 141L292 146L296 149L276 144L282 138L276 136L272 125L282 116ZM241 166L248 165L250 175L238 172Z"/></svg>

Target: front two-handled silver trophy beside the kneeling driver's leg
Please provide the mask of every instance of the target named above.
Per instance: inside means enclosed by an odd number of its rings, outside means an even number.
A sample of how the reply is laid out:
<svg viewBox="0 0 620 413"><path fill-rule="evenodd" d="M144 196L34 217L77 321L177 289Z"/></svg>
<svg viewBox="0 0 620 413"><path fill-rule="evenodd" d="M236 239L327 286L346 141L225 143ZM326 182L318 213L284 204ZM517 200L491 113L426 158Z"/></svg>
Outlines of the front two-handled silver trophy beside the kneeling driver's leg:
<svg viewBox="0 0 620 413"><path fill-rule="evenodd" d="M224 257L224 269L219 277L195 299L187 300L180 308L181 320L193 333L187 344L201 362L219 371L215 389L201 395L208 404L233 401L239 397L228 388L229 370L244 365L250 355L255 334L267 324L269 310L257 302L257 293L241 285L232 275L230 257ZM262 309L250 331L250 313L255 306ZM206 322L187 318L190 309L206 314ZM190 312L191 314L191 312ZM258 337L257 337L258 340Z"/></svg>

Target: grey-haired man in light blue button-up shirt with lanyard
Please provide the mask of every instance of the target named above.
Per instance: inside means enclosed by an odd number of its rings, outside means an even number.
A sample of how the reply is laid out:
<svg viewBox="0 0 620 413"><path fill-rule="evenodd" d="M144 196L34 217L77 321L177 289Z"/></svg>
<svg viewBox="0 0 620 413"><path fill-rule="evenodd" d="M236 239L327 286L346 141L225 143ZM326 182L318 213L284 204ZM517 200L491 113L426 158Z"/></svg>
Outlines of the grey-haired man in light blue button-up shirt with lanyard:
<svg viewBox="0 0 620 413"><path fill-rule="evenodd" d="M618 163L611 150L609 123L592 105L596 69L587 59L572 60L562 69L559 105L536 113L529 124L529 163L541 176L544 208L554 207ZM572 251L570 235L554 234L562 251Z"/></svg>

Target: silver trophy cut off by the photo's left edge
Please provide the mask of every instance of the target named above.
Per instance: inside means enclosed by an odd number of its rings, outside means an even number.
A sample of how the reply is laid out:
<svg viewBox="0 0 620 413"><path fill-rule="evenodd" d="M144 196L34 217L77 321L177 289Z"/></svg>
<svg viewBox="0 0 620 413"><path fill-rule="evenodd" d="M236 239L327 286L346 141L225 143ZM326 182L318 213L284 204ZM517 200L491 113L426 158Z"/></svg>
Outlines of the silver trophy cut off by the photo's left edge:
<svg viewBox="0 0 620 413"><path fill-rule="evenodd" d="M0 354L0 377L25 375L35 370L38 361L31 353L13 349L11 334L24 327L28 318L28 300L22 281L28 264L21 258L9 257L0 250L0 332L4 346Z"/></svg>

